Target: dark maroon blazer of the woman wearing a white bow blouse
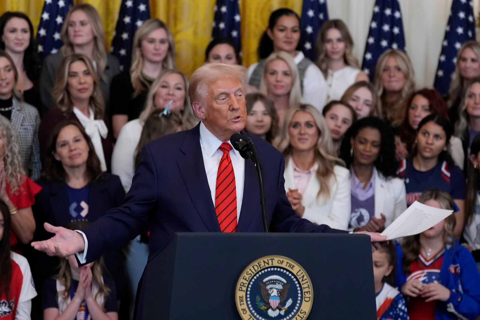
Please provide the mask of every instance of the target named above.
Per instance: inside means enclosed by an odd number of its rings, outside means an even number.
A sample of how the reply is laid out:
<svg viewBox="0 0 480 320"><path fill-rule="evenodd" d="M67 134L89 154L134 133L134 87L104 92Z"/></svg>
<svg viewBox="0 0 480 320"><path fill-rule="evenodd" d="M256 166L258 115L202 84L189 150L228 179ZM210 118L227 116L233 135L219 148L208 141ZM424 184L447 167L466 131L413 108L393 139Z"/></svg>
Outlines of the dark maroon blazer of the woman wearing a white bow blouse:
<svg viewBox="0 0 480 320"><path fill-rule="evenodd" d="M48 111L43 117L42 123L40 123L40 128L38 129L38 141L40 142L40 160L43 164L45 163L45 152L47 151L46 149L48 148L48 139L50 138L50 133L53 131L53 129L57 124L66 120L80 123L80 121L78 120L75 113L73 113L73 111L70 111L68 113L63 113L58 108L54 108ZM103 121L107 125L108 135L105 139L102 138L102 147L103 147L103 154L105 156L105 162L107 164L107 171L110 172L112 152L113 152L113 134L112 134L112 127L110 125L110 121L108 120L107 114L104 115Z"/></svg>

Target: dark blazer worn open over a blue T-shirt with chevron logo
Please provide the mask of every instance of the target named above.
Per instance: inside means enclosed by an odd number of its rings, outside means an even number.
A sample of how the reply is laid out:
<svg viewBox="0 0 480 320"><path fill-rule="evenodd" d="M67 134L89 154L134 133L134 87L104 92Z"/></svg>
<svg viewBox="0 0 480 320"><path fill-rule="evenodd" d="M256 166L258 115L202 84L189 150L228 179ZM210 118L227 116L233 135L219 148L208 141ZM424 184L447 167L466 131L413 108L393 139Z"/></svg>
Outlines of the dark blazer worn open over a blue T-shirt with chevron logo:
<svg viewBox="0 0 480 320"><path fill-rule="evenodd" d="M36 183L42 187L42 191L36 195L35 204L32 206L38 226L34 234L34 241L41 241L52 236L42 227L44 222L62 227L66 227L71 222L70 203L64 181L47 181L42 178ZM125 196L120 178L113 174L104 173L102 178L89 183L89 186L88 214L85 217L88 222L95 222L109 209L120 206ZM38 286L43 286L46 279L58 272L59 259L49 257L37 250L31 251L29 258L32 258L30 261L35 263L35 266L32 265L32 274L38 290ZM110 250L104 258L106 267L117 287L117 295L121 297L126 290L126 278L120 250Z"/></svg>

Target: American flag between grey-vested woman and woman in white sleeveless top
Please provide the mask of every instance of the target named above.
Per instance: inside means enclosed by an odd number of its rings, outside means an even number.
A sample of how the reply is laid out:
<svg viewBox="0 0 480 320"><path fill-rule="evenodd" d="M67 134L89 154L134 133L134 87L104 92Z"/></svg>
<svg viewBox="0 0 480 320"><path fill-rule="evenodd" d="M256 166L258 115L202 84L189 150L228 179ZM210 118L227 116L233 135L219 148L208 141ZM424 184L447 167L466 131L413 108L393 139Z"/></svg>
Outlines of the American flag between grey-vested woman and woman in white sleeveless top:
<svg viewBox="0 0 480 320"><path fill-rule="evenodd" d="M326 0L304 0L301 11L301 40L303 54L312 61L317 61L315 43L318 29L328 20Z"/></svg>

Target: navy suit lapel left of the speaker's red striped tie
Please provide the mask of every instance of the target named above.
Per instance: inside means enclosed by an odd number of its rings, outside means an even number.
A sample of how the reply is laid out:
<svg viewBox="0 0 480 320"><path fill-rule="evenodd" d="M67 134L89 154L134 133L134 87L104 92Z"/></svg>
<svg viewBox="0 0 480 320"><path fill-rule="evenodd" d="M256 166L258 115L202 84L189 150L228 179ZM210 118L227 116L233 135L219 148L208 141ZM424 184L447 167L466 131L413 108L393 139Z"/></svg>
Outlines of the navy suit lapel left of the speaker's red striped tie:
<svg viewBox="0 0 480 320"><path fill-rule="evenodd" d="M220 232L200 147L200 125L187 132L180 151L184 156L177 160L177 164L193 205L207 230Z"/></svg>

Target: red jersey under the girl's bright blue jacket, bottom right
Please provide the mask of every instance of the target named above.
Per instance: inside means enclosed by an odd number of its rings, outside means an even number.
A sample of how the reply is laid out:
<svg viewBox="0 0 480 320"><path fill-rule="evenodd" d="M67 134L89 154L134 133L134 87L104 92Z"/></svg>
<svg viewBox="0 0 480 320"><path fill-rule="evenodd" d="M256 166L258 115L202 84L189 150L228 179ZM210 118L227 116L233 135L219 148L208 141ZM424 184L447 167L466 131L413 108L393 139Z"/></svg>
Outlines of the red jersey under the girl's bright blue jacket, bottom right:
<svg viewBox="0 0 480 320"><path fill-rule="evenodd" d="M422 254L419 255L410 264L410 274L407 281L417 279L423 284L438 283L440 280L440 270L444 261L443 249L435 257L427 260ZM410 320L434 320L436 301L425 302L425 298L420 296L410 297L408 301L408 317Z"/></svg>

